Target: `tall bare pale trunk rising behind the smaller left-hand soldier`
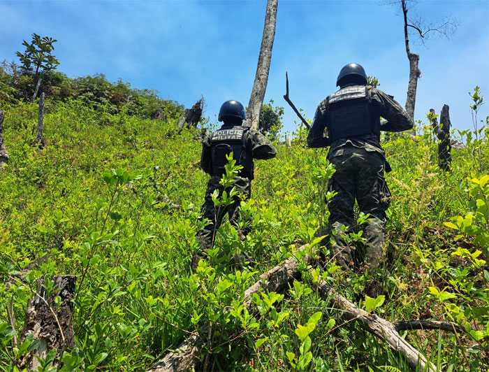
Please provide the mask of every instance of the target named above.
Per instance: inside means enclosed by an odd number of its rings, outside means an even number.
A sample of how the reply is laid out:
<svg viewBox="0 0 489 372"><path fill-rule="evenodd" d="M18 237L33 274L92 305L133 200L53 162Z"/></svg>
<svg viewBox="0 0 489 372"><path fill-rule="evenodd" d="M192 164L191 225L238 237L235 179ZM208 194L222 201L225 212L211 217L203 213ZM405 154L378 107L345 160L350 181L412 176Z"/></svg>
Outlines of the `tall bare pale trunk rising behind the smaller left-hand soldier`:
<svg viewBox="0 0 489 372"><path fill-rule="evenodd" d="M260 56L256 66L255 81L253 90L249 97L247 109L247 122L251 128L258 129L260 121L260 110L265 98L265 91L268 84L268 73L270 72L270 61L272 59L273 41L275 39L275 24L277 22L277 6L279 0L268 0L265 13L265 26L263 27L263 37L261 39Z"/></svg>

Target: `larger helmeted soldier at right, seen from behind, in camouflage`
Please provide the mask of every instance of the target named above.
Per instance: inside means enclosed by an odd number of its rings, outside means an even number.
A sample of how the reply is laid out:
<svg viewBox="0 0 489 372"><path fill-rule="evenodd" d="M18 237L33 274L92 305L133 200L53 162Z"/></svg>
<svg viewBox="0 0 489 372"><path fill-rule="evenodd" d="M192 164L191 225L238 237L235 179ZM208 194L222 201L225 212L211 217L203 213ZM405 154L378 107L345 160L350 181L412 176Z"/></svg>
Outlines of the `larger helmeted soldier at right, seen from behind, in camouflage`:
<svg viewBox="0 0 489 372"><path fill-rule="evenodd" d="M384 170L391 169L380 145L380 131L406 131L414 122L393 96L367 85L359 64L344 66L336 85L340 90L319 104L307 136L309 148L330 146L328 160L336 169L328 184L328 190L337 193L328 204L331 253L340 266L353 266L351 248L344 238L348 230L342 232L342 228L353 223L356 200L360 211L370 214L363 225L365 264L377 269L383 258L391 197L384 179ZM381 122L380 117L387 121ZM324 136L325 129L328 136Z"/></svg>

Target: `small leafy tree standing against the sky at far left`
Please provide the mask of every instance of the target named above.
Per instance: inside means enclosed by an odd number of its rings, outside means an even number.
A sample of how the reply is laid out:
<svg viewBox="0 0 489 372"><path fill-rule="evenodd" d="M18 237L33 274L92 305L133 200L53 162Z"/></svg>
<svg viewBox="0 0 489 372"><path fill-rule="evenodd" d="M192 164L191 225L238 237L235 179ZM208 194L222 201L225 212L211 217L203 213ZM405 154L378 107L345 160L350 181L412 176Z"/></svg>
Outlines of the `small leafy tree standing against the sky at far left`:
<svg viewBox="0 0 489 372"><path fill-rule="evenodd" d="M36 87L32 95L32 101L36 99L45 73L56 69L59 65L56 57L51 54L54 50L53 44L56 42L57 40L48 36L41 38L38 34L32 34L31 43L27 43L25 40L22 43L25 46L24 54L17 52L17 57L20 58L24 71L34 74Z"/></svg>

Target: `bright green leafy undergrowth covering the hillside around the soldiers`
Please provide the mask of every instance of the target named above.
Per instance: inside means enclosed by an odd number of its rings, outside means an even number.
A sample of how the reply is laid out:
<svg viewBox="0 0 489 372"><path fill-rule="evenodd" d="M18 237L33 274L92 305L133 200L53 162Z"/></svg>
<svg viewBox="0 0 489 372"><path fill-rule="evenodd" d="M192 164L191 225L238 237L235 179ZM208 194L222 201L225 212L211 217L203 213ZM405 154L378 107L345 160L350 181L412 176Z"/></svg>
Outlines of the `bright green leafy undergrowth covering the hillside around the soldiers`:
<svg viewBox="0 0 489 372"><path fill-rule="evenodd" d="M13 345L13 337L20 334L37 279L64 273L78 276L76 346L52 366L46 362L45 371L145 371L207 322L212 334L201 355L207 369L408 371L400 355L357 324L344 323L319 298L319 276L388 320L460 324L464 331L456 334L409 331L405 337L444 371L487 369L487 126L477 136L458 133L465 146L453 149L452 173L437 168L437 140L421 123L416 138L384 144L394 195L384 298L365 301L368 273L326 262L312 274L302 267L303 282L293 282L284 294L254 297L251 313L242 306L245 289L314 241L326 224L326 185L334 172L327 150L307 149L303 129L291 148L277 143L277 158L256 163L252 199L242 204L254 215L251 234L240 241L224 223L210 262L191 274L207 180L198 164L198 133L184 129L178 135L171 115L166 121L143 118L154 96L138 96L122 82L48 75L48 81L64 83L52 85L45 147L39 149L29 145L37 108L4 88L16 78L0 70L10 153L0 171L1 371L13 371L36 346L18 338ZM351 234L354 245L361 245L359 229ZM238 271L228 260L242 250L253 260ZM10 300L17 331L8 320Z"/></svg>

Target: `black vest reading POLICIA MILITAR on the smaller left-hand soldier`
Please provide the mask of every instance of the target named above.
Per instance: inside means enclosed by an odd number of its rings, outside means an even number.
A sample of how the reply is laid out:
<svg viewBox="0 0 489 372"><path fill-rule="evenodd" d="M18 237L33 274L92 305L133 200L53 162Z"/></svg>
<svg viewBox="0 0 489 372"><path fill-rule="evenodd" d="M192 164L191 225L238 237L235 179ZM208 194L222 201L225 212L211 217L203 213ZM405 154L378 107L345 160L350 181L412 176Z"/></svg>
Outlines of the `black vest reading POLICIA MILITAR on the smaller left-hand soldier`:
<svg viewBox="0 0 489 372"><path fill-rule="evenodd" d="M233 152L236 164L243 166L238 173L240 177L253 178L252 158L246 151L246 134L248 127L233 127L232 129L219 129L210 135L211 176L221 177L226 173L224 166L228 164L226 155Z"/></svg>

